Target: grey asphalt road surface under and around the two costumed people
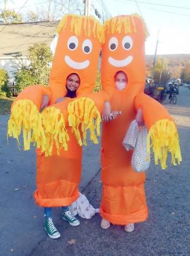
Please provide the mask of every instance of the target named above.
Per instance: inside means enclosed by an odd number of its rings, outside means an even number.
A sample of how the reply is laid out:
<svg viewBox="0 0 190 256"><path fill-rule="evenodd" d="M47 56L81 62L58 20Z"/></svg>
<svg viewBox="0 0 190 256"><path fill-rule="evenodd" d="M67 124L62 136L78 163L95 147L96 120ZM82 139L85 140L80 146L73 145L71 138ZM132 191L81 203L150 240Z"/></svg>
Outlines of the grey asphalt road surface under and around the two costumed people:
<svg viewBox="0 0 190 256"><path fill-rule="evenodd" d="M165 171L155 167L152 162L146 179L149 218L146 222L137 223L132 233L125 233L122 226L111 225L108 230L102 230L99 215L90 220L80 219L80 226L72 227L63 222L57 213L56 225L62 236L56 241L47 238L43 231L41 209L31 197L35 188L34 153L18 152L12 141L7 148L6 139L2 141L1 138L0 255L189 256L190 90L180 87L177 96L176 105L169 104L168 99L164 105L178 124L183 161L176 167L169 164ZM0 123L0 129L5 133L4 120ZM95 173L99 168L94 165L95 162L99 164L99 153L98 148L96 152L94 150L94 147L88 148L84 162L88 163L91 158L92 165L86 166L85 170L92 168ZM99 207L99 172L83 188L92 205Z"/></svg>

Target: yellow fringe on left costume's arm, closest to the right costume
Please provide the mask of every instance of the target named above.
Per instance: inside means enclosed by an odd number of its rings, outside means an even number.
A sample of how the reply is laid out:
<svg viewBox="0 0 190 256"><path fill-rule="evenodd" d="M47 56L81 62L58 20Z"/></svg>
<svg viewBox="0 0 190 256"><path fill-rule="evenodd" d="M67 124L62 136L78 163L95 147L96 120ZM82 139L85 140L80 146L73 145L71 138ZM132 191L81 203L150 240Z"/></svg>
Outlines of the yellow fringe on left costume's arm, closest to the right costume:
<svg viewBox="0 0 190 256"><path fill-rule="evenodd" d="M99 125L101 123L101 116L98 108L96 108L94 101L90 98L79 98L69 103L67 107L69 126L72 127L72 132L80 146L86 144L86 132L89 129L91 140L95 144L98 143L96 136L100 136ZM83 133L83 142L80 134L79 127ZM96 134L95 134L96 131Z"/></svg>

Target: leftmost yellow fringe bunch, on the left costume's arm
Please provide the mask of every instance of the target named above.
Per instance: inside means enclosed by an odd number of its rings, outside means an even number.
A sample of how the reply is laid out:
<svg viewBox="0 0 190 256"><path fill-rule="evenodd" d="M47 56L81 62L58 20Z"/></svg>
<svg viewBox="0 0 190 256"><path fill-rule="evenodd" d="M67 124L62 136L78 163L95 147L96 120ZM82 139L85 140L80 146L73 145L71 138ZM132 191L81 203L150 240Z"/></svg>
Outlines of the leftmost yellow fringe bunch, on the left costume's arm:
<svg viewBox="0 0 190 256"><path fill-rule="evenodd" d="M8 137L17 139L23 133L24 150L30 149L30 143L36 142L40 146L46 141L41 123L41 114L36 105L30 100L18 100L14 103L11 116L8 120Z"/></svg>

